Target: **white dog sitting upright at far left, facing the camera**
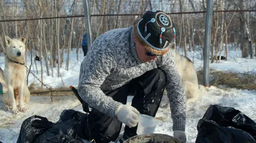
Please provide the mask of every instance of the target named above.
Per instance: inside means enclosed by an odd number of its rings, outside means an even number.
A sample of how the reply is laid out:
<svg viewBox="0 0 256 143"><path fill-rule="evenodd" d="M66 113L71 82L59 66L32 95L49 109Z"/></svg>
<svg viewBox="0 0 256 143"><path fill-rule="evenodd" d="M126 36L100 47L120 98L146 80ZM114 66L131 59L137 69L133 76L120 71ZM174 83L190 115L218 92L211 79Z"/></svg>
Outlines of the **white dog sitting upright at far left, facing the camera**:
<svg viewBox="0 0 256 143"><path fill-rule="evenodd" d="M19 108L23 112L26 112L24 104L24 87L26 79L26 61L25 57L25 42L26 38L21 37L19 39L5 37L6 41L6 55L4 66L4 79L7 86L7 93L10 96L13 114L17 114L19 110L15 102L15 95L13 90L19 89Z"/></svg>

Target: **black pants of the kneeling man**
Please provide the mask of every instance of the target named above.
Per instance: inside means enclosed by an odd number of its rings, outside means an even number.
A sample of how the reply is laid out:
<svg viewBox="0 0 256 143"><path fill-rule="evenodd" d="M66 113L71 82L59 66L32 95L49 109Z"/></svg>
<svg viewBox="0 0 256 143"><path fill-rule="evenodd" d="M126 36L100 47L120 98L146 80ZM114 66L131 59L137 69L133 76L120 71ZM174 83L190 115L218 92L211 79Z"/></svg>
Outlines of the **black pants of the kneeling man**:
<svg viewBox="0 0 256 143"><path fill-rule="evenodd" d="M125 86L114 91L104 91L104 93L107 96L111 96L113 100L123 104L127 102L127 94L134 93L132 106L141 114L155 117L165 86L166 75L157 68L144 73L141 77L133 79ZM73 114L78 111L69 110L68 112ZM122 128L122 123L118 119L109 117L96 109L92 109L90 114L83 114L81 112L79 114L81 116L81 124L76 126L76 132L82 139L94 139L97 143L104 143L115 141L118 138ZM137 135L136 130L137 126L134 128L125 126L124 136L129 138Z"/></svg>

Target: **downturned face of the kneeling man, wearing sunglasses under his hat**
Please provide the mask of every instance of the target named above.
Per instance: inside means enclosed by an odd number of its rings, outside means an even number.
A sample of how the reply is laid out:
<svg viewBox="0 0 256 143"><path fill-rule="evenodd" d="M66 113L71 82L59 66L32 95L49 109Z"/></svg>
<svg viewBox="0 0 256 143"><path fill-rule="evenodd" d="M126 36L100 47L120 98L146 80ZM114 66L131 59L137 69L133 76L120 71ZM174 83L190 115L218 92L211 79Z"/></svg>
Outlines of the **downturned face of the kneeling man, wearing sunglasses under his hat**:
<svg viewBox="0 0 256 143"><path fill-rule="evenodd" d="M146 48L141 45L137 40L136 37L133 36L133 41L135 43L136 52L138 54L138 57L142 63L147 63L149 61L156 61L157 56L148 56Z"/></svg>

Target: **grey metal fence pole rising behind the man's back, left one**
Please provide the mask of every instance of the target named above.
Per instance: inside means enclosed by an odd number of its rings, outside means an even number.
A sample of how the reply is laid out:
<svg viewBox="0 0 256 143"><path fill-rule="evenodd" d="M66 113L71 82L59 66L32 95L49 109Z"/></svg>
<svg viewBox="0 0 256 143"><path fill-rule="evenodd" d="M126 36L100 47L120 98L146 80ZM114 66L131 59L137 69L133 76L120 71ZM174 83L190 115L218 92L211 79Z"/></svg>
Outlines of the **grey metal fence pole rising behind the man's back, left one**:
<svg viewBox="0 0 256 143"><path fill-rule="evenodd" d="M87 33L87 46L88 50L91 48L92 45L92 32L91 32L91 24L90 24L90 15L89 15L89 3L88 0L83 0L84 5L84 20L86 23L86 33Z"/></svg>

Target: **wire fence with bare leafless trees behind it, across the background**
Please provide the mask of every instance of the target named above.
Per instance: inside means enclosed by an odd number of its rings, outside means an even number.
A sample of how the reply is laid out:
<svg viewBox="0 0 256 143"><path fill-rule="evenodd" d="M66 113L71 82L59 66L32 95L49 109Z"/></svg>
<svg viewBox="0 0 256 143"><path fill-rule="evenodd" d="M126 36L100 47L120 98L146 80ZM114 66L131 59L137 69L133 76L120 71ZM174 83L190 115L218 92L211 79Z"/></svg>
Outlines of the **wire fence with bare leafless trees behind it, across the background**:
<svg viewBox="0 0 256 143"><path fill-rule="evenodd" d="M202 61L206 10L204 0L90 0L88 2L92 40L111 29L132 26L134 20L147 10L162 10L170 15L175 24L177 50L192 61ZM1 52L4 52L5 47L4 35L26 36L28 57L33 61L31 64L35 63L35 55L43 57L44 63L41 64L44 64L44 69L41 71L47 71L46 75L52 77L61 77L60 71L54 75L54 72L51 72L52 68L68 70L67 54L73 52L77 54L77 60L83 58L81 54L79 55L82 52L83 34L86 33L83 1L6 0L1 1L0 4ZM255 54L255 11L255 1L214 0L211 55L218 56L222 51L222 56L228 58L225 54L226 49L227 53L230 50L245 49L246 52L241 56L246 54L249 56L249 39L252 41L252 51ZM241 42L244 40L247 45L241 47ZM199 64L197 67L200 68L202 62ZM40 75L37 70L40 68L34 64L32 67L34 67L32 72ZM56 82L63 80L65 82L65 79ZM51 83L48 84L51 87ZM44 84L41 85L43 87Z"/></svg>

